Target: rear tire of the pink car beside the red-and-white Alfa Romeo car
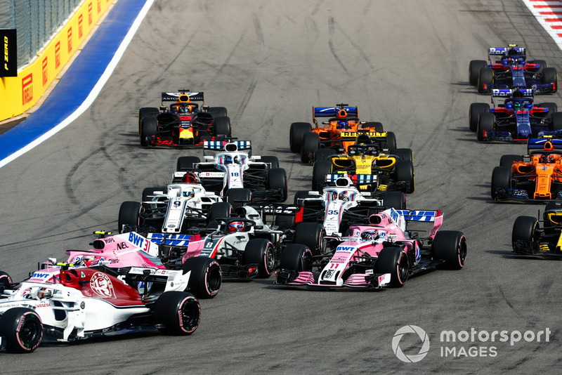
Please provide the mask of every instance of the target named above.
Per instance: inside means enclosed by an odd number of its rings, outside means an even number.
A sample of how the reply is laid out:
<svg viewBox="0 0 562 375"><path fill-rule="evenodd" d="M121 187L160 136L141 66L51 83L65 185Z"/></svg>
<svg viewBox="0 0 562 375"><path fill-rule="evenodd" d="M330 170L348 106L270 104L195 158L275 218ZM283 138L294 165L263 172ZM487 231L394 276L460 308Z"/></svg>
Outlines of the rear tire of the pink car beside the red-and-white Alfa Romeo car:
<svg viewBox="0 0 562 375"><path fill-rule="evenodd" d="M213 298L218 294L223 283L221 265L213 258L193 256L185 259L181 265L183 275L191 272L189 277L189 291L197 298Z"/></svg>

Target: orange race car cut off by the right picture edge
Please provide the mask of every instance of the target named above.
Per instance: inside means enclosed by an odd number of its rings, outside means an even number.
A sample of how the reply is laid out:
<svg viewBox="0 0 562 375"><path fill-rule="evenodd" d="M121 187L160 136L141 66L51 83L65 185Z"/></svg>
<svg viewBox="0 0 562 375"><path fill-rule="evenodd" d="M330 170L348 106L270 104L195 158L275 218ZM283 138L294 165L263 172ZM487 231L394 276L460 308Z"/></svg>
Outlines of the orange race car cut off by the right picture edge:
<svg viewBox="0 0 562 375"><path fill-rule="evenodd" d="M492 171L492 199L545 202L562 197L562 139L528 140L528 154L503 155Z"/></svg>

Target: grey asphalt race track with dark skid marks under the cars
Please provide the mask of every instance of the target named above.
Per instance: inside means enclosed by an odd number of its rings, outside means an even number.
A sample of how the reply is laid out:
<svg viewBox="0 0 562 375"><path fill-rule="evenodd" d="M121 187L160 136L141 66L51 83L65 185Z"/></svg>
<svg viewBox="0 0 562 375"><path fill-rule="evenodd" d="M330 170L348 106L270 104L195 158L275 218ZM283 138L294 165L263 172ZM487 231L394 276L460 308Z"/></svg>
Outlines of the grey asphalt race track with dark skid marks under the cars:
<svg viewBox="0 0 562 375"><path fill-rule="evenodd" d="M520 1L156 1L91 108L0 169L2 270L23 279L47 257L87 249L93 230L117 230L121 202L168 183L178 156L202 154L138 145L138 108L156 107L161 91L179 88L228 107L233 135L253 140L256 155L277 155L292 192L309 188L312 166L289 152L289 124L311 121L313 105L357 105L361 119L382 121L398 147L414 150L417 190L408 208L444 211L443 228L466 234L466 267L375 292L278 289L273 277L225 283L201 302L192 336L129 335L0 353L2 373L558 371L561 263L511 256L515 218L542 206L490 202L499 157L524 154L525 145L478 143L468 129L470 103L490 99L469 86L469 60L509 43L562 73L562 52ZM559 94L537 101L562 107ZM431 342L415 364L392 348L396 331L409 324ZM514 345L440 341L445 330L547 328L548 342L544 335ZM466 355L445 357L444 347ZM478 355L469 355L471 347ZM414 355L421 341L405 335L400 348Z"/></svg>

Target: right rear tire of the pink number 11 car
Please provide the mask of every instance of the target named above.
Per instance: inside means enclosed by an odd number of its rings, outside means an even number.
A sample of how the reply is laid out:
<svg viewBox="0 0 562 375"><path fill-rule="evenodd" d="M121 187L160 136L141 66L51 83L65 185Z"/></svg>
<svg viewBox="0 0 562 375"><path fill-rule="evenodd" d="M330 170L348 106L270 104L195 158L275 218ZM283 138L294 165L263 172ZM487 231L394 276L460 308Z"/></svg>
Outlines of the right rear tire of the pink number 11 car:
<svg viewBox="0 0 562 375"><path fill-rule="evenodd" d="M450 270L460 270L466 260L466 238L457 230L440 230L431 245L433 257Z"/></svg>

